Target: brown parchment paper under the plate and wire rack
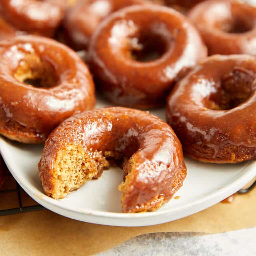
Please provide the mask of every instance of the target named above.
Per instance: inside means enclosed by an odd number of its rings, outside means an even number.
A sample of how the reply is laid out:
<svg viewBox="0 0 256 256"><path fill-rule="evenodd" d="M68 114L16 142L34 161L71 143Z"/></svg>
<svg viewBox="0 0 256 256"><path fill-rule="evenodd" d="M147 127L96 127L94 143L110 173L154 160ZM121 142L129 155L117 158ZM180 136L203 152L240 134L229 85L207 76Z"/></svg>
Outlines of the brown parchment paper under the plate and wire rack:
<svg viewBox="0 0 256 256"><path fill-rule="evenodd" d="M2 189L15 187L7 178ZM24 205L35 202L25 193ZM0 194L0 209L17 207L16 194ZM256 189L237 195L231 204L219 203L169 223L147 227L111 227L68 219L48 210L0 217L0 255L93 255L135 236L153 232L220 233L256 226Z"/></svg>

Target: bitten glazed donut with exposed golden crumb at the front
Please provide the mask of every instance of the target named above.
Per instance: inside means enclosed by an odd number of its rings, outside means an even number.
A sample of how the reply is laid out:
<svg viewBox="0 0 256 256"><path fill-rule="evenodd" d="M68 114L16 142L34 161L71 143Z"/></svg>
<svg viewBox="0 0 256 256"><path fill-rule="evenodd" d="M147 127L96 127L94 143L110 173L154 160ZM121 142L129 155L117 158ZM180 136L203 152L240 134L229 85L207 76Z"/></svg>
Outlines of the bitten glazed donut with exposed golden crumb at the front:
<svg viewBox="0 0 256 256"><path fill-rule="evenodd" d="M62 122L45 143L39 176L44 192L60 199L122 159L123 212L158 209L186 177L171 127L148 112L122 107L85 111Z"/></svg>

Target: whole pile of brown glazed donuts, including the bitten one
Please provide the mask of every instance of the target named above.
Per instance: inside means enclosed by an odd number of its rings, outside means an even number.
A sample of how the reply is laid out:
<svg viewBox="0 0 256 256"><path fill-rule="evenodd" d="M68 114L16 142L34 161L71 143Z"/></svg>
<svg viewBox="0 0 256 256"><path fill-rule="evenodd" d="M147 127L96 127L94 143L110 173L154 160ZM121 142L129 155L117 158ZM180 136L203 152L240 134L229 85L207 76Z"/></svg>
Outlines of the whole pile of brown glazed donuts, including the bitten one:
<svg viewBox="0 0 256 256"><path fill-rule="evenodd" d="M183 185L183 153L256 158L256 7L2 0L0 15L0 134L44 144L46 195L118 165L122 211L154 211ZM95 88L112 107L94 108ZM167 122L145 111L161 107Z"/></svg>

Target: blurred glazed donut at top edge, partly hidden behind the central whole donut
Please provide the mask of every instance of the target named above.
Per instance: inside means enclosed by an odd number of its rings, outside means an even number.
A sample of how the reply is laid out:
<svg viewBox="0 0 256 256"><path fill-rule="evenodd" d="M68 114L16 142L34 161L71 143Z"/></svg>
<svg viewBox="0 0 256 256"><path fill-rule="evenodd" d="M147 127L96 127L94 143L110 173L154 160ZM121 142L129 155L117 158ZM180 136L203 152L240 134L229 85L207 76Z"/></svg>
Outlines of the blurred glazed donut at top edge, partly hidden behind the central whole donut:
<svg viewBox="0 0 256 256"><path fill-rule="evenodd" d="M145 3L143 0L81 0L69 10L63 22L68 44L76 50L86 49L103 18L123 7Z"/></svg>

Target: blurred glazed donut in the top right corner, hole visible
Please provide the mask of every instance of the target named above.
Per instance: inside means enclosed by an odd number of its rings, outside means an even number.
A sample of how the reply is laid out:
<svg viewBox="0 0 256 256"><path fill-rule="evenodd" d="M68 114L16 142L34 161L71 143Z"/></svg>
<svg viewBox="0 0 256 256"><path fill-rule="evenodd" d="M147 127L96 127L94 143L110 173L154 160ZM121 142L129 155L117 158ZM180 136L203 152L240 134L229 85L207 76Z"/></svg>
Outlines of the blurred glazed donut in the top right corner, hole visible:
<svg viewBox="0 0 256 256"><path fill-rule="evenodd" d="M256 7L239 1L209 0L196 5L188 18L213 54L256 55Z"/></svg>

